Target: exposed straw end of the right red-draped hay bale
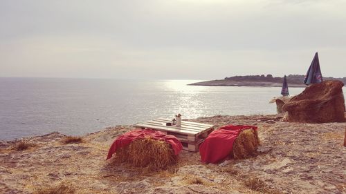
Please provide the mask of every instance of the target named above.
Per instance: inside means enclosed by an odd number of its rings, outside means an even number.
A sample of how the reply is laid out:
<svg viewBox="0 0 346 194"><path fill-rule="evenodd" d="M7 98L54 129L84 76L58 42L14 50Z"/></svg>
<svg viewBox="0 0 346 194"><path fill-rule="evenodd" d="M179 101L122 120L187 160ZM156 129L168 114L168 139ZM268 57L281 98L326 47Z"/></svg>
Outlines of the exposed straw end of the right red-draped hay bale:
<svg viewBox="0 0 346 194"><path fill-rule="evenodd" d="M235 159L251 157L255 154L258 146L260 146L260 139L257 130L242 130L233 143L232 155Z"/></svg>

